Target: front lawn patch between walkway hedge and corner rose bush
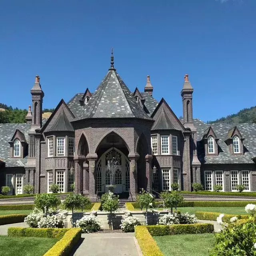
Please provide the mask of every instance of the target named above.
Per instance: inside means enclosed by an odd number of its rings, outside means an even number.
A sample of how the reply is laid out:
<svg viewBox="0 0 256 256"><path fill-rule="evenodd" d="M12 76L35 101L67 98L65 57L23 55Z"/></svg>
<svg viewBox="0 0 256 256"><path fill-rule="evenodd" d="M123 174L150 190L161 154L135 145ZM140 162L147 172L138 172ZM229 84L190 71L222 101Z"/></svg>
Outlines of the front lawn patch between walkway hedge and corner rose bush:
<svg viewBox="0 0 256 256"><path fill-rule="evenodd" d="M165 256L207 256L214 245L214 234L154 236Z"/></svg>

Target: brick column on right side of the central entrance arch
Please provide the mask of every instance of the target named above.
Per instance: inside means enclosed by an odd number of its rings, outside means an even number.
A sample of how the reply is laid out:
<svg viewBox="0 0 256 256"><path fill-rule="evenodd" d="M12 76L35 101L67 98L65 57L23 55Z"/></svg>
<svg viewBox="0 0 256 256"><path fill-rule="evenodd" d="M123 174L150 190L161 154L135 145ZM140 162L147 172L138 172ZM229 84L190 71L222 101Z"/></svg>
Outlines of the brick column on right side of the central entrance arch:
<svg viewBox="0 0 256 256"><path fill-rule="evenodd" d="M138 166L137 160L140 157L138 153L130 153L128 159L130 160L130 193L129 200L134 201L136 194L138 194Z"/></svg>

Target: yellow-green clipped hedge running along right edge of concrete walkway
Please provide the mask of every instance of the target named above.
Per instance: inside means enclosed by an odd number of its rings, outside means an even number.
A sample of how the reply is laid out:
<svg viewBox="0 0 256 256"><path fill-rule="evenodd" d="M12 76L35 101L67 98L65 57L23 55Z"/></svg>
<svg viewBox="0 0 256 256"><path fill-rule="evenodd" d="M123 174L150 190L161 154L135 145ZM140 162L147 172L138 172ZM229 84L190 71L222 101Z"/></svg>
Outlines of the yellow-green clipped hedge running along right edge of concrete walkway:
<svg viewBox="0 0 256 256"><path fill-rule="evenodd" d="M143 256L164 256L146 226L136 226L135 237L138 240Z"/></svg>

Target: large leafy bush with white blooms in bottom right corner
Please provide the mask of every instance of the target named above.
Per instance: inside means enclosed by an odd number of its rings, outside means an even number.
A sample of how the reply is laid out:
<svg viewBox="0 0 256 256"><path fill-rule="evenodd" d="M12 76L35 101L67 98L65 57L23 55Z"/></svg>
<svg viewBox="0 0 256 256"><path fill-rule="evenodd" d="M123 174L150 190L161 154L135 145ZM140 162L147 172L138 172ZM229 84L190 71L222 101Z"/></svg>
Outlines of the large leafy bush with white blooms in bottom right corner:
<svg viewBox="0 0 256 256"><path fill-rule="evenodd" d="M224 214L217 217L222 224L222 230L215 234L214 248L210 256L256 256L256 205L248 204L245 211L249 213L248 220L238 221L230 218L230 223L224 222ZM245 222L244 222L245 221Z"/></svg>

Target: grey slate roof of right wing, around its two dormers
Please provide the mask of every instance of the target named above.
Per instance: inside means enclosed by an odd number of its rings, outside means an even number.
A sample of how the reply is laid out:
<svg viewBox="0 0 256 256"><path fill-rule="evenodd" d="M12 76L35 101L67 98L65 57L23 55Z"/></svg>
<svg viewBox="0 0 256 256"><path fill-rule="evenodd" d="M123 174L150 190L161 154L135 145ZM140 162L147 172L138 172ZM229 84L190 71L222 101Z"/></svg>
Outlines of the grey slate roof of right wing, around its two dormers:
<svg viewBox="0 0 256 256"><path fill-rule="evenodd" d="M199 119L194 120L197 128L198 159L205 164L254 164L252 158L256 156L256 124L205 124ZM204 156L202 137L204 131L212 126L218 140L218 156ZM244 138L244 155L233 155L230 153L226 140L230 129L236 126Z"/></svg>

